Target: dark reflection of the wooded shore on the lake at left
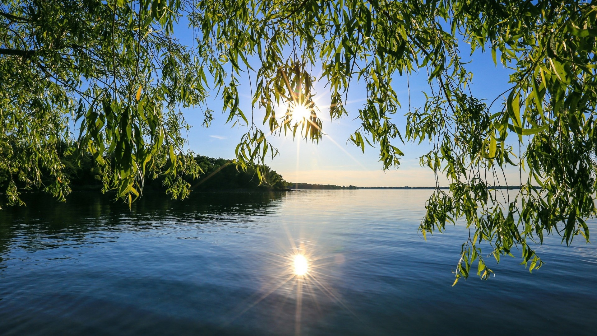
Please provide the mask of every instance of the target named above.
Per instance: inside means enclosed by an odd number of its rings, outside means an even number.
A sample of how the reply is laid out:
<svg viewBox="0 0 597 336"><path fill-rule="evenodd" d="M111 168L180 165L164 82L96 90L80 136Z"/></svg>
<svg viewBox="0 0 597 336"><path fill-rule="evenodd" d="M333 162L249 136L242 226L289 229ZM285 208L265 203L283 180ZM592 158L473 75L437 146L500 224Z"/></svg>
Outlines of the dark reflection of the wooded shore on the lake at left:
<svg viewBox="0 0 597 336"><path fill-rule="evenodd" d="M0 268L10 248L27 250L98 243L97 235L119 230L146 230L156 225L242 225L253 215L267 215L284 193L193 193L171 200L147 193L129 210L121 201L95 193L73 193L66 203L42 194L26 194L27 206L0 210ZM238 215L242 215L240 218ZM227 220L229 219L229 220ZM12 246L11 246L12 245Z"/></svg>

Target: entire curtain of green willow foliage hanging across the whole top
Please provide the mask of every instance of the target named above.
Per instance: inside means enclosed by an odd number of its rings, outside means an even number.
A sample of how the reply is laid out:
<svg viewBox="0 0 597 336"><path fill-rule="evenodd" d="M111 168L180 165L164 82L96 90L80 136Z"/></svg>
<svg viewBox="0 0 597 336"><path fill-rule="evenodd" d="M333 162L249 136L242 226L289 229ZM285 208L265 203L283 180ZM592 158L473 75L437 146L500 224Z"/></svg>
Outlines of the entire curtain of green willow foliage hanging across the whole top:
<svg viewBox="0 0 597 336"><path fill-rule="evenodd" d="M402 142L431 143L421 164L451 184L446 191L436 182L420 231L467 225L456 281L472 265L487 279L485 256L499 261L513 249L530 270L540 267L532 246L544 234L589 239L597 11L586 1L13 0L1 8L0 169L14 179L38 183L43 168L56 177L48 190L66 192L53 146L75 118L79 146L103 167L106 189L130 199L152 172L184 196L177 176L197 170L181 152L178 108L204 106L210 87L228 121L248 128L236 148L241 167L276 153L270 132L318 141L323 114L359 118L350 141L376 146L383 169L399 165ZM174 38L186 29L175 25L180 16L194 30L193 48ZM511 69L500 95L507 99L473 96L461 44ZM415 73L428 78L426 102L409 103L406 125L397 125L404 109L392 83ZM315 80L328 83L329 109L313 102ZM239 107L246 81L251 111ZM367 101L348 111L356 84ZM288 110L276 113L279 105ZM299 109L308 114L297 123ZM520 181L505 181L508 165ZM494 188L507 183L521 189Z"/></svg>

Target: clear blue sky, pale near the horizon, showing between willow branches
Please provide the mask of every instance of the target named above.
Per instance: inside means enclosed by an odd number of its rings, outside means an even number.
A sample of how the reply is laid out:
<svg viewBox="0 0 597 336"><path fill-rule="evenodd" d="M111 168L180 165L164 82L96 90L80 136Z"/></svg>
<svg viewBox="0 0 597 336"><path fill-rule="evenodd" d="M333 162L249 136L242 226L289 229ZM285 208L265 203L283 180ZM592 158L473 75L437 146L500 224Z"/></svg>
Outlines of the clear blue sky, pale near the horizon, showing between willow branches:
<svg viewBox="0 0 597 336"><path fill-rule="evenodd" d="M189 36L190 37L190 36ZM180 35L179 35L180 38ZM183 44L192 44L192 40L186 43L186 36L181 38ZM483 54L476 51L469 57L470 50L467 45L461 46L464 60L471 63L467 69L473 72L473 85L471 90L476 97L484 98L491 103L509 85L509 71L503 65L498 63L494 65L491 54ZM315 69L315 68L314 68ZM317 75L317 74L313 74ZM253 77L254 78L254 77ZM421 91L430 93L426 84L427 74L413 75L410 78L411 106L419 108L424 105L424 96ZM351 84L352 85L352 84ZM402 109L393 117L394 123L404 135L405 121L404 114L408 112L408 90L406 77L400 77L396 74L392 86L398 93ZM239 94L246 99L241 102L241 108L247 114L251 111L251 93L248 83L238 87ZM398 169L390 169L385 172L381 169L382 164L379 160L378 148L365 146L365 153L361 149L347 142L350 135L360 126L358 109L365 102L366 91L358 84L352 85L348 100L345 104L349 117L342 120L331 121L326 106L330 104L330 96L325 88L325 83L316 84L318 99L316 103L321 109L320 118L323 122L325 135L319 141L319 144L303 140L301 138L292 139L291 135L286 138L282 136L270 136L269 140L279 150L279 155L273 160L268 160L267 164L273 170L284 176L289 182L305 182L313 184L335 184L335 185L356 185L358 187L429 187L435 185L435 178L432 170L419 166L419 158L430 150L426 143L415 145L405 143L399 139L393 142L404 153L401 165ZM505 97L500 98L493 106L493 112L501 110L500 103ZM209 157L234 158L235 148L238 145L241 136L247 132L246 127L226 124L227 115L221 114L221 101L217 97L217 91L210 93L208 99L208 108L216 113L211 127L202 126L204 115L198 108L184 110L187 123L193 127L188 133L189 149L201 155ZM263 120L264 112L254 109L255 120ZM327 116L327 117L326 117ZM264 132L267 126L262 128ZM518 170L507 171L508 181L518 182ZM447 185L445 178L440 179L441 185Z"/></svg>

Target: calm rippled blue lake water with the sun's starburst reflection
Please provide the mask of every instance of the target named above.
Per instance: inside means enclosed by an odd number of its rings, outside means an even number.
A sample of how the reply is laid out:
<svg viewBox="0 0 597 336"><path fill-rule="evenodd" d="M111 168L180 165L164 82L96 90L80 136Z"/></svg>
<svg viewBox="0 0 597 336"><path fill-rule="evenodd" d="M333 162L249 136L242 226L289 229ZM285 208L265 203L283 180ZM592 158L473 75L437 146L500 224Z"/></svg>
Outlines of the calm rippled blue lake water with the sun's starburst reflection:
<svg viewBox="0 0 597 336"><path fill-rule="evenodd" d="M467 233L417 234L429 194L30 198L0 211L0 334L595 334L595 245L549 237L533 274L515 252L451 287Z"/></svg>

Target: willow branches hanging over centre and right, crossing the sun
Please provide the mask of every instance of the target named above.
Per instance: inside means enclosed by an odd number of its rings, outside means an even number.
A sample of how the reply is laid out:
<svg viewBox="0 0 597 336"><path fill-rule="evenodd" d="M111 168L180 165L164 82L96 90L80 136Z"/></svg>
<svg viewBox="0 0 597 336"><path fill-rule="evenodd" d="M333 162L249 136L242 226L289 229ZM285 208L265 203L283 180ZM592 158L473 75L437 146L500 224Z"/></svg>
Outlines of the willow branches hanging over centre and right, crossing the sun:
<svg viewBox="0 0 597 336"><path fill-rule="evenodd" d="M328 83L330 117L348 115L344 102L357 83L367 100L351 112L361 127L350 142L363 151L365 144L378 146L384 169L404 155L396 142L431 143L421 166L435 173L436 191L420 231L466 223L457 281L475 264L482 279L493 273L481 246L490 246L498 261L519 249L522 264L533 270L542 262L531 246L544 234L560 234L568 244L577 234L588 241L585 220L595 215L596 192L590 157L597 139L596 13L587 2L550 0L199 1L191 22L216 86L228 94L224 109L253 132L239 145L239 160L270 148L238 109L243 72L256 75L253 106L264 109L269 132L287 130L287 115L280 118L274 107L301 94L310 105L316 81ZM500 97L488 104L470 91L463 42L511 70L502 104L496 104ZM319 78L306 71L314 68ZM409 100L401 133L392 118L401 109L392 84L404 76L408 85L415 73L427 74L429 90L423 106ZM302 131L315 141L322 132L320 124ZM519 181L507 181L507 166L518 167ZM451 181L448 191L439 188L440 175ZM517 193L500 188L512 184L520 186Z"/></svg>

